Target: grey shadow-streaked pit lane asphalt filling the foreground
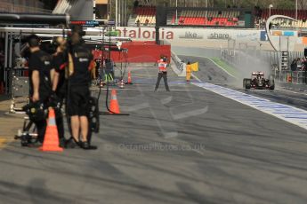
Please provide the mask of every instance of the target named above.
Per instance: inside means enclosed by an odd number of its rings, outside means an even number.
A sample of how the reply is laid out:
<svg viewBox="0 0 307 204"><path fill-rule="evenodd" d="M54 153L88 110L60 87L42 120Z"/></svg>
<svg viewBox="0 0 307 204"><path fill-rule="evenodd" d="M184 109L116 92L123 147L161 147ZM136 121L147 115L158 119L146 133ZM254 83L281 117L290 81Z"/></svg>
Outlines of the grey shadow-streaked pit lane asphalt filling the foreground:
<svg viewBox="0 0 307 204"><path fill-rule="evenodd" d="M169 74L154 92L156 68L133 69L96 151L0 150L0 203L306 203L304 129Z"/></svg>

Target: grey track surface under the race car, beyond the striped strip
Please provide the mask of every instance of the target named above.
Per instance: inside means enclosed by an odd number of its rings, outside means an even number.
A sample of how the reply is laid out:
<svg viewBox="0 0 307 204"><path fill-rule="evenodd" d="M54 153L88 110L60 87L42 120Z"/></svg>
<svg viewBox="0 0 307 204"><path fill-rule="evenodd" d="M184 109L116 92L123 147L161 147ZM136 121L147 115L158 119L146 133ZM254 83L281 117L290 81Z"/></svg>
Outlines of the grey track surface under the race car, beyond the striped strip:
<svg viewBox="0 0 307 204"><path fill-rule="evenodd" d="M204 82L211 82L214 84L221 84L229 87L233 90L239 90L247 94L270 99L271 101L278 102L281 104L287 104L307 110L307 93L295 92L290 90L282 90L279 87L276 90L244 90L242 89L241 79L234 79L230 75L227 75L221 68L216 67L213 62L206 58L196 58L189 56L179 56L180 59L185 62L199 62L200 71L194 73L200 80ZM236 82L239 81L239 82Z"/></svg>

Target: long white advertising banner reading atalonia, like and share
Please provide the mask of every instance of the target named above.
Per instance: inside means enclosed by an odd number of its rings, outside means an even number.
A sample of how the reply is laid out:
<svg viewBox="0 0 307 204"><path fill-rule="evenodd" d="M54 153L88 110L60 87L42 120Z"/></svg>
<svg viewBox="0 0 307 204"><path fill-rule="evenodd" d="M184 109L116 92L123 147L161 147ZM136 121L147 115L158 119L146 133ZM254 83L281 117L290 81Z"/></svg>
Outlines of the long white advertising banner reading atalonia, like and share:
<svg viewBox="0 0 307 204"><path fill-rule="evenodd" d="M117 27L117 33L122 37L130 37L133 41L155 41L156 39L154 27ZM256 29L161 27L159 33L160 40L166 40L169 43L180 43L182 40L196 43L210 41L227 43L229 39L243 43L269 42L266 31ZM271 41L274 43L279 43L280 36L287 36L287 39L290 39L290 51L295 47L295 44L306 43L306 40L297 37L297 31L271 31Z"/></svg>

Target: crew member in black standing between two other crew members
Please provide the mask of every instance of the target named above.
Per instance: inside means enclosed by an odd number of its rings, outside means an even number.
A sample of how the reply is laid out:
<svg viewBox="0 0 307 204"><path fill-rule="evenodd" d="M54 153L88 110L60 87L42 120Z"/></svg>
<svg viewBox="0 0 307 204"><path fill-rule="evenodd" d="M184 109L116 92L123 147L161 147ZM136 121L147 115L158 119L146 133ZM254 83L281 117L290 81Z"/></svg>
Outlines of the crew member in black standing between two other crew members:
<svg viewBox="0 0 307 204"><path fill-rule="evenodd" d="M67 66L66 56L66 40L63 37L55 37L53 43L57 46L56 52L53 54L53 93L52 100L54 106L57 106L58 110L56 114L56 125L59 132L60 145L65 145L64 137L64 120L61 114L61 106L67 93L67 82L65 78L65 67Z"/></svg>

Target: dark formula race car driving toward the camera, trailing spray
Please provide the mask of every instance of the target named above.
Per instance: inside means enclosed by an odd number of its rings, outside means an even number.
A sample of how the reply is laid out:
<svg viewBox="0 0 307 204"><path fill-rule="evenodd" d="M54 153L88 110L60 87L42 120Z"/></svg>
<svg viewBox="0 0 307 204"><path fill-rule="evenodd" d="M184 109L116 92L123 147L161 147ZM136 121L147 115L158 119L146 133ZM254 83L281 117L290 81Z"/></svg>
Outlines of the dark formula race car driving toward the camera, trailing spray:
<svg viewBox="0 0 307 204"><path fill-rule="evenodd" d="M269 79L265 79L263 72L253 72L252 77L250 79L243 79L243 88L246 90L249 90L251 88L259 90L274 90L274 77L270 75Z"/></svg>

